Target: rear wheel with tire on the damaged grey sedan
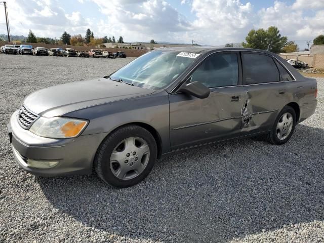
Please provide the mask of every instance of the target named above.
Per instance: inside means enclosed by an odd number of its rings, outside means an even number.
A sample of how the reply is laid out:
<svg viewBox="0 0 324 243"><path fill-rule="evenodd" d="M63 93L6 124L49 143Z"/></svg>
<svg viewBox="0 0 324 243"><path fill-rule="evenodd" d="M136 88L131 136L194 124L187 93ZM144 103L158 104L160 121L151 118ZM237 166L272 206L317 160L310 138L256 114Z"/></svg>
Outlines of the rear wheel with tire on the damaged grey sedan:
<svg viewBox="0 0 324 243"><path fill-rule="evenodd" d="M269 142L276 145L286 143L293 136L296 124L295 110L291 106L285 106L278 114L268 134Z"/></svg>

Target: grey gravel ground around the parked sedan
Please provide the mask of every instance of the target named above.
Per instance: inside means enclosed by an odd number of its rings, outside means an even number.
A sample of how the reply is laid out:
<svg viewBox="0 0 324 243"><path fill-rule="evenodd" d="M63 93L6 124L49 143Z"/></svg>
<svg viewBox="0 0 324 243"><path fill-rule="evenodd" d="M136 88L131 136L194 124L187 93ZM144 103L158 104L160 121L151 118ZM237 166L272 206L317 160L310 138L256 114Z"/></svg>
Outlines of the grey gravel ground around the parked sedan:
<svg viewBox="0 0 324 243"><path fill-rule="evenodd" d="M26 95L130 60L0 55L0 241L324 241L324 78L315 114L282 146L245 139L179 153L127 189L18 167L6 124Z"/></svg>

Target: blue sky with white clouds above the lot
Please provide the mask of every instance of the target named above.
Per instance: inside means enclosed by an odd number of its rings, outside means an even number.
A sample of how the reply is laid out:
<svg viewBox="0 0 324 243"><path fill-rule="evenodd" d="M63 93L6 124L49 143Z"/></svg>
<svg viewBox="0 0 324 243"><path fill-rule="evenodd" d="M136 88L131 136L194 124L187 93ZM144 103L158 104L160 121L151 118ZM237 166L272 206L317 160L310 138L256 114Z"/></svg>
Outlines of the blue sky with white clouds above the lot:
<svg viewBox="0 0 324 243"><path fill-rule="evenodd" d="M300 48L324 34L324 0L7 0L11 34L59 38L66 30L125 42L240 43L275 25ZM0 5L0 33L7 33Z"/></svg>

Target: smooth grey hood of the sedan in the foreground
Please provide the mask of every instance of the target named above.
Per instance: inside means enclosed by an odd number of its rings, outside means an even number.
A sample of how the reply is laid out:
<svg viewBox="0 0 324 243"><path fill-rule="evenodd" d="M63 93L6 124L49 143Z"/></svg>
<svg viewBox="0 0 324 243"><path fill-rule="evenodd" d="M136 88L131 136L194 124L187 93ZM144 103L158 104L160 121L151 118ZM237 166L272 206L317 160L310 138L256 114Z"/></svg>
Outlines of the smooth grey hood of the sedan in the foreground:
<svg viewBox="0 0 324 243"><path fill-rule="evenodd" d="M148 90L115 82L107 78L96 78L36 91L24 100L27 109L35 114L53 117L97 104L148 95Z"/></svg>

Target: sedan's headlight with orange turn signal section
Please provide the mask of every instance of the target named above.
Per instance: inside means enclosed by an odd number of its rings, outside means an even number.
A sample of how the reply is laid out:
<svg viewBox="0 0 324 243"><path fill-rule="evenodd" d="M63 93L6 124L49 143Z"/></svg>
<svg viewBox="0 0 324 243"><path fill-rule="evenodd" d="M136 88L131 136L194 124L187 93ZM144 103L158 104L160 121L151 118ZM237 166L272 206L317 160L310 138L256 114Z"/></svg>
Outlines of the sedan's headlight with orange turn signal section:
<svg viewBox="0 0 324 243"><path fill-rule="evenodd" d="M87 120L67 117L39 117L29 131L47 138L74 138L87 126Z"/></svg>

